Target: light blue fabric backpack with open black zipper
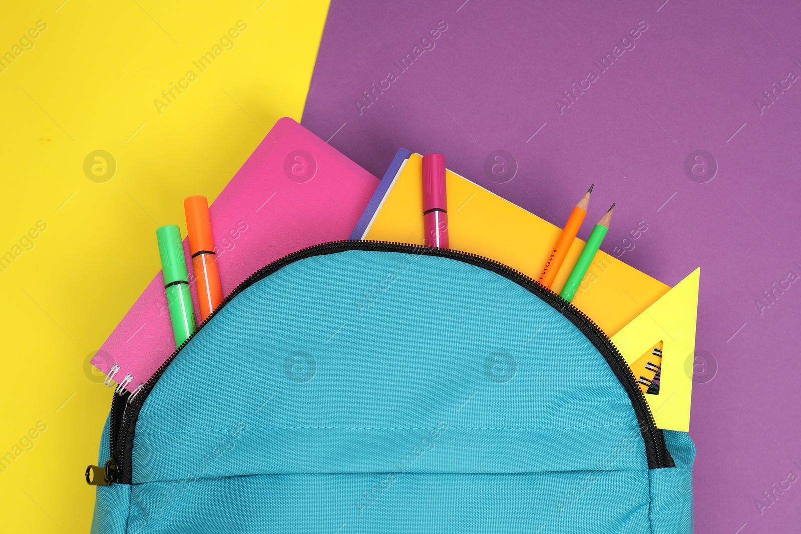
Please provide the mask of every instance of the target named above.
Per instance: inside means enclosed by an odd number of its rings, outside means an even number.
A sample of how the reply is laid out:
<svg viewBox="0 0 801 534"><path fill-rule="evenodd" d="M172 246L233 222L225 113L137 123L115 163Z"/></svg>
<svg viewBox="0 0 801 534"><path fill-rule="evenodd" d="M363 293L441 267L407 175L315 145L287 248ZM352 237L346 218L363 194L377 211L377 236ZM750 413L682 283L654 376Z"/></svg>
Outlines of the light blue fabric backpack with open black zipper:
<svg viewBox="0 0 801 534"><path fill-rule="evenodd" d="M115 394L87 480L103 534L683 534L693 458L555 293L344 241L256 272Z"/></svg>

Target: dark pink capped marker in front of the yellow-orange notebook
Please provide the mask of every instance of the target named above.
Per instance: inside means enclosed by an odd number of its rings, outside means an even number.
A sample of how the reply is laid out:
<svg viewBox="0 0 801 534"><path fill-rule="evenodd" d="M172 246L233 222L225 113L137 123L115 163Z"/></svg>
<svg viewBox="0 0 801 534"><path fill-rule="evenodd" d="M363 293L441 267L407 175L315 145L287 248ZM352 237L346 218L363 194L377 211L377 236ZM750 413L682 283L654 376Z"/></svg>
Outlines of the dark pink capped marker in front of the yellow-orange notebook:
<svg viewBox="0 0 801 534"><path fill-rule="evenodd" d="M445 156L423 156L423 227L425 246L448 248L448 197Z"/></svg>

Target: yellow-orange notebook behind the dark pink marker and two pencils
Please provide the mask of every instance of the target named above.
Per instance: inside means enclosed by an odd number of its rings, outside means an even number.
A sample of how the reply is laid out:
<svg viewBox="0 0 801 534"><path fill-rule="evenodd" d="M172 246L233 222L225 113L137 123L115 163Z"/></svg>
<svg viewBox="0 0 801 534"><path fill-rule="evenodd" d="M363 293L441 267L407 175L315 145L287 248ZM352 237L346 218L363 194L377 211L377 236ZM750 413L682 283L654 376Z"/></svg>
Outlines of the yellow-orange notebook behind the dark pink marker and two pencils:
<svg viewBox="0 0 801 534"><path fill-rule="evenodd" d="M396 159L407 153L401 149ZM396 176L384 195L376 191L369 204L376 211L362 215L370 223L356 239L423 244L421 159L421 155L412 154L403 167L393 161L388 172L397 169ZM456 173L447 171L446 180L450 247L495 259L538 279L562 229ZM386 177L382 187L384 182ZM598 217L602 214L592 206L590 211ZM576 238L551 287L553 291L559 292L565 285L583 247L584 241ZM598 251L573 303L611 336L668 290L666 284Z"/></svg>

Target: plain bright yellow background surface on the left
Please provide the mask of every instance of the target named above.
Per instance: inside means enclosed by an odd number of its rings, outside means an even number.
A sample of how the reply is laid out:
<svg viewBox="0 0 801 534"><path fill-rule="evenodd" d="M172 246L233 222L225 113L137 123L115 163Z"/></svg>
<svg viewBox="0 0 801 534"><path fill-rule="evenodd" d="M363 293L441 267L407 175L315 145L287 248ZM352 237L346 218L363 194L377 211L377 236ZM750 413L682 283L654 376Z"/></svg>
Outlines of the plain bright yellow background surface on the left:
<svg viewBox="0 0 801 534"><path fill-rule="evenodd" d="M278 118L300 121L328 12L326 0L62 2L6 4L0 18L2 54L47 25L0 72L0 255L46 223L0 272L0 456L47 425L0 472L3 532L89 531L83 472L112 390L87 360L159 270L155 228L185 235L184 197L211 201ZM234 48L200 73L192 61L240 20ZM198 79L159 114L153 100L187 70ZM83 170L97 150L117 166L105 183Z"/></svg>

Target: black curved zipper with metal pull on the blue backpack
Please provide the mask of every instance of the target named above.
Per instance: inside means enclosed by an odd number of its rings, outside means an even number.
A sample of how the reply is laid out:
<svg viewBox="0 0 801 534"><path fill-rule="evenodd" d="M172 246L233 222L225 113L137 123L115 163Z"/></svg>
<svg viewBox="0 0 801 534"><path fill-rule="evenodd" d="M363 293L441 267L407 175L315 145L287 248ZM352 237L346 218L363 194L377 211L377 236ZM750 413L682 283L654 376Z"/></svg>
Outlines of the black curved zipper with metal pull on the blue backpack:
<svg viewBox="0 0 801 534"><path fill-rule="evenodd" d="M574 323L574 325L586 335L587 339L590 339L594 347L601 352L606 362L609 363L614 375L618 378L623 388L626 390L626 393L629 395L632 406L634 406L634 413L637 416L640 432L645 441L648 468L658 469L675 467L673 458L667 450L664 434L661 429L656 427L654 416L650 412L645 395L642 394L637 380L631 373L629 366L626 364L620 351L618 351L618 348L614 346L609 336L607 336L590 317L573 304L562 299L557 293L542 286L536 280L529 278L529 276L524 275L512 267L508 267L494 259L485 258L484 256L469 252L405 243L392 243L389 241L342 240L306 247L300 251L286 255L283 258L276 259L276 261L260 268L258 271L248 276L247 279L244 279L242 283L239 283L234 291L231 291L231 293L223 299L223 302L219 303L215 311L213 311L211 315L197 327L192 335L181 343L181 345L175 349L175 352L161 364L159 369L147 380L137 395L131 398L131 394L128 391L123 390L120 392L118 388L118 391L115 391L114 399L111 401L111 428L109 435L111 456L103 468L95 465L90 465L87 468L87 483L91 485L107 485L115 482L131 484L131 456L134 448L133 431L136 420L139 417L139 410L142 408L145 399L147 399L147 395L150 394L155 383L159 380L159 377L167 369L172 360L175 359L175 356L179 354L183 347L186 347L187 343L189 343L195 334L197 334L212 317L217 315L217 312L222 307L231 302L236 295L239 295L239 293L252 286L252 284L264 279L280 268L286 267L290 263L311 256L334 254L344 251L405 252L408 254L432 255L441 258L456 259L493 271L524 287L534 295L537 295L540 299L544 300L545 303L548 303L569 319L571 323ZM91 473L95 475L95 480L90 479ZM103 474L103 479L98 480L101 474Z"/></svg>

